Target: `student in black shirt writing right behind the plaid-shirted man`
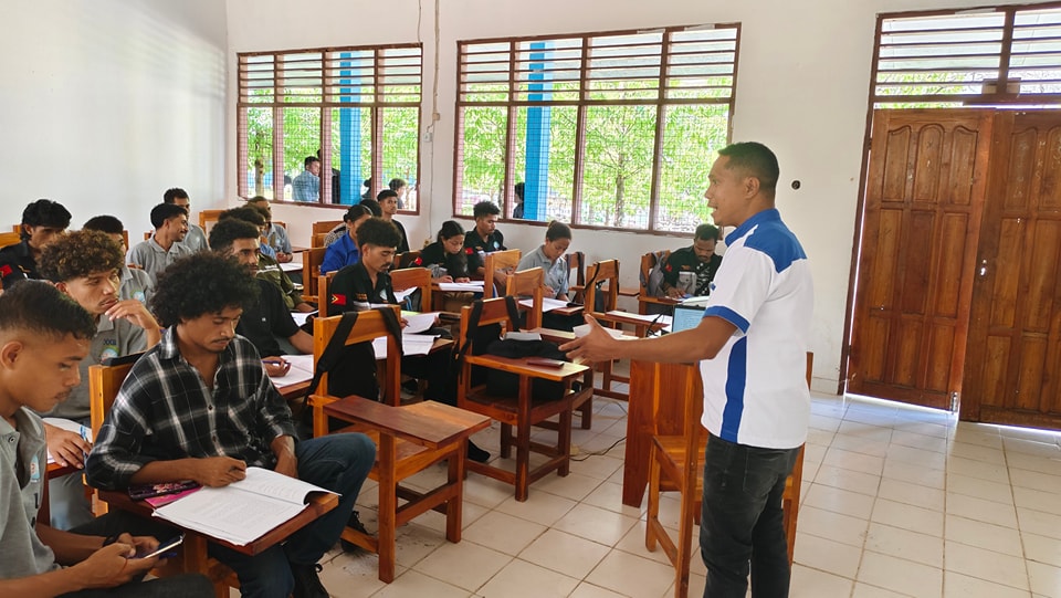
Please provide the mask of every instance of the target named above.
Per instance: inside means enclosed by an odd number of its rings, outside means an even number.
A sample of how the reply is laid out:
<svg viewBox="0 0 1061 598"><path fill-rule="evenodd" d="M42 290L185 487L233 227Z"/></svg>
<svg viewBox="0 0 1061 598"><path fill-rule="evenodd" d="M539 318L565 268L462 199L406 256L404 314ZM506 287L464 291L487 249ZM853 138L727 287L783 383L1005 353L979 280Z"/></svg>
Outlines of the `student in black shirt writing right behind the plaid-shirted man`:
<svg viewBox="0 0 1061 598"><path fill-rule="evenodd" d="M250 222L229 218L210 229L210 249L227 258L234 258L252 275L258 273L258 228ZM286 354L277 338L283 338L301 354L313 353L313 337L301 329L284 304L284 295L275 284L255 277L258 301L246 305L235 332L254 344L270 376L283 375ZM272 358L272 359L270 359Z"/></svg>

